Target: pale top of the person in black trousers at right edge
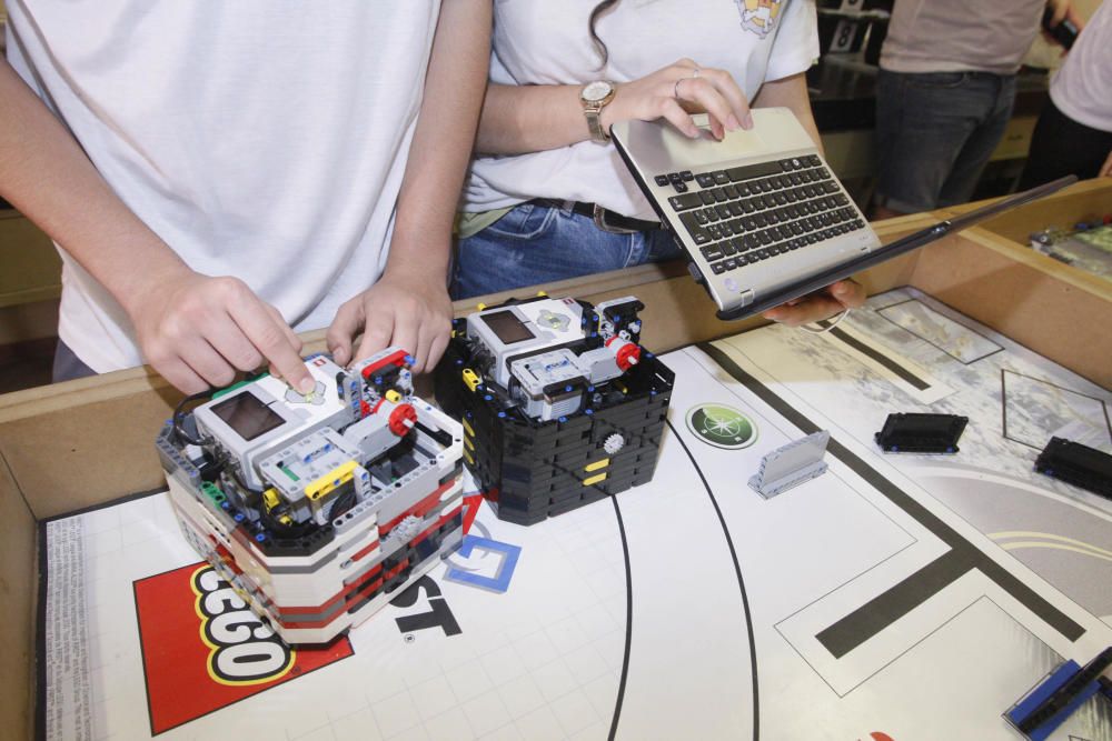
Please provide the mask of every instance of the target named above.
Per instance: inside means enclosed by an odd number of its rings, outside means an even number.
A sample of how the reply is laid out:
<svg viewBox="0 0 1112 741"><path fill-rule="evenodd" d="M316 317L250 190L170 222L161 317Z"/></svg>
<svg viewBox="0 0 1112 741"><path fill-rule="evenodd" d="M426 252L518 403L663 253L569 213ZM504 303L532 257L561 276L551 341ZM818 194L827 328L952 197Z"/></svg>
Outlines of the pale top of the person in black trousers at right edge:
<svg viewBox="0 0 1112 741"><path fill-rule="evenodd" d="M1112 2L1102 2L1081 30L1050 97L1074 121L1112 131Z"/></svg>

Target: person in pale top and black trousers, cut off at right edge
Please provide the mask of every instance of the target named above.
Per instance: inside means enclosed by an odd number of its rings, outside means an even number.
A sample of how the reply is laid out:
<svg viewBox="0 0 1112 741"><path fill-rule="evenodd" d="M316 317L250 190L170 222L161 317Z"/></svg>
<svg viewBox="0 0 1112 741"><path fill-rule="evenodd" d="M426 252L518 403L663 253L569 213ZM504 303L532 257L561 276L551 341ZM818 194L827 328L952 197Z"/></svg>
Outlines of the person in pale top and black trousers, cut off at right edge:
<svg viewBox="0 0 1112 741"><path fill-rule="evenodd" d="M1102 2L1050 82L1020 189L1075 174L1112 178L1112 2Z"/></svg>

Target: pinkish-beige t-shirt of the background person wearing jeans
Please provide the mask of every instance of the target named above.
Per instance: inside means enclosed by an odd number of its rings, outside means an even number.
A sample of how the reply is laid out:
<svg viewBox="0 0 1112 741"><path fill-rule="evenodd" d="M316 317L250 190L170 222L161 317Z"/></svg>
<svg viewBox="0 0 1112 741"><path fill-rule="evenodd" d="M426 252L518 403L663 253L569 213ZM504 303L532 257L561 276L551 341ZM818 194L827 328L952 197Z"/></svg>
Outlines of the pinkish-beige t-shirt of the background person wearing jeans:
<svg viewBox="0 0 1112 741"><path fill-rule="evenodd" d="M1046 0L896 0L881 67L1015 74Z"/></svg>

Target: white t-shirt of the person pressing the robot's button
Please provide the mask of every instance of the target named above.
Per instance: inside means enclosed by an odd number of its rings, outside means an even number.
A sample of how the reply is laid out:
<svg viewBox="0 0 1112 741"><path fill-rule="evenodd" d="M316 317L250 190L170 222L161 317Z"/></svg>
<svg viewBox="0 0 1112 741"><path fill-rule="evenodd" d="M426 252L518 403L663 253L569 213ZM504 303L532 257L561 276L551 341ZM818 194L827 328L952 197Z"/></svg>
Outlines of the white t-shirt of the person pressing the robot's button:
<svg viewBox="0 0 1112 741"><path fill-rule="evenodd" d="M195 270L296 329L386 264L439 0L8 0L8 54L125 203ZM107 290L62 251L59 334L140 364Z"/></svg>

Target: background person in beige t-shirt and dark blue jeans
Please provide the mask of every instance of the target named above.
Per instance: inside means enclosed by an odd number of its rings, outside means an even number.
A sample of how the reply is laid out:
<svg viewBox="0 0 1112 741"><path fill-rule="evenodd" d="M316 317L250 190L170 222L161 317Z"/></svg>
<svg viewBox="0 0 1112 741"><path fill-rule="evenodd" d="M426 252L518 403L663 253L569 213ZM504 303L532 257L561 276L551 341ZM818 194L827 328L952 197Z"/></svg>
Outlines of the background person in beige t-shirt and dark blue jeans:
<svg viewBox="0 0 1112 741"><path fill-rule="evenodd" d="M895 1L876 90L875 219L970 200L1048 7L1052 26L1078 22L1069 0Z"/></svg>

